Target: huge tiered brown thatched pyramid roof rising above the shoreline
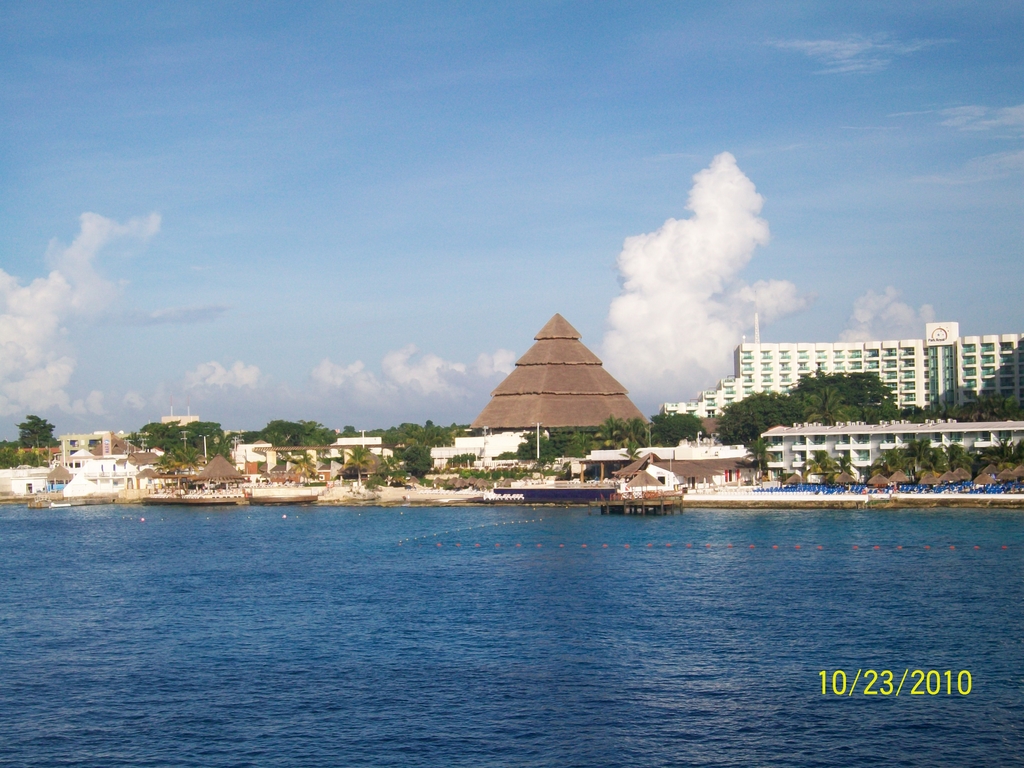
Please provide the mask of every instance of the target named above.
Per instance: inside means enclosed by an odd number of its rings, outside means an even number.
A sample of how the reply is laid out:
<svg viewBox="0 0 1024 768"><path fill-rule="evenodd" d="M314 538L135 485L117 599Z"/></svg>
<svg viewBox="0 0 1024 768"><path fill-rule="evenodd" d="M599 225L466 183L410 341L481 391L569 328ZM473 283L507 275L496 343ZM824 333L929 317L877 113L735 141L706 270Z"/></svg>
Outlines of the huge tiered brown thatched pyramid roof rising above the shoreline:
<svg viewBox="0 0 1024 768"><path fill-rule="evenodd" d="M548 321L534 338L537 343L490 393L474 428L596 427L609 416L646 421L626 387L604 370L562 315Z"/></svg>

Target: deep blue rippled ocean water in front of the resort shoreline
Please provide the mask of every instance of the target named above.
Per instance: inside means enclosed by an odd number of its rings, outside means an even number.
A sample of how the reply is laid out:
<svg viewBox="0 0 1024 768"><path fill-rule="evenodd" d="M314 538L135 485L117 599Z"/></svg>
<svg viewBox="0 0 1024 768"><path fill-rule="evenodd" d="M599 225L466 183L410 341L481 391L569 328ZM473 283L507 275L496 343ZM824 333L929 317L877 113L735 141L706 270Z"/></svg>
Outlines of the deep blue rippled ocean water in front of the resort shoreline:
<svg viewBox="0 0 1024 768"><path fill-rule="evenodd" d="M1022 598L998 510L0 507L0 765L1021 764Z"/></svg>

